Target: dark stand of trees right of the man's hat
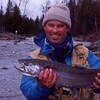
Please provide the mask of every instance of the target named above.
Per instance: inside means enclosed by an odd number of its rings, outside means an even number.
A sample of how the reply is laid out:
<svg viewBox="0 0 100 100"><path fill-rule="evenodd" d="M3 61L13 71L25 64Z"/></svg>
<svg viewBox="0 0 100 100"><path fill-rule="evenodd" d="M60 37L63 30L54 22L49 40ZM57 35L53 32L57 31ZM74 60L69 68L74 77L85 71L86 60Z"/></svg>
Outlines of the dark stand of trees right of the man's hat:
<svg viewBox="0 0 100 100"><path fill-rule="evenodd" d="M73 33L86 34L100 31L100 1L70 0Z"/></svg>

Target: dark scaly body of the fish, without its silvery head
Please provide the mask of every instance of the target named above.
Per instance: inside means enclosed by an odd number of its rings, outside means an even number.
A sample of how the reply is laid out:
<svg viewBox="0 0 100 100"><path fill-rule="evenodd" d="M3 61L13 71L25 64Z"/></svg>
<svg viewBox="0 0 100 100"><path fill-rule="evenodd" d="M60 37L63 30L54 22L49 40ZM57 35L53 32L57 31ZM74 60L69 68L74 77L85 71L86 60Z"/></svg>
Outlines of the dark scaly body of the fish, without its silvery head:
<svg viewBox="0 0 100 100"><path fill-rule="evenodd" d="M56 85L67 87L90 87L95 81L95 76L100 72L100 68L97 69L85 69L85 68L72 68L70 65L49 62L39 59L20 59L19 63L32 63L33 65L39 65L42 67L51 67L57 73ZM80 66L81 67L81 66Z"/></svg>

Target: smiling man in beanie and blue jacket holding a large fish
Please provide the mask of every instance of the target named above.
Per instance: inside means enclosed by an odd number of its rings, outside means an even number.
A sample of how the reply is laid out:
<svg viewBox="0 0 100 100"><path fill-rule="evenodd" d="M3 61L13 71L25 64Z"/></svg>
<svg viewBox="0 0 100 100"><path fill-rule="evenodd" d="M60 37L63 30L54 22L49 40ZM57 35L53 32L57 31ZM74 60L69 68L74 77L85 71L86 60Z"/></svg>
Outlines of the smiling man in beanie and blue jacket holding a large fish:
<svg viewBox="0 0 100 100"><path fill-rule="evenodd" d="M33 51L28 59L44 59L72 66L84 64L87 68L100 67L100 58L83 45L74 46L69 33L70 11L66 4L51 7L46 12L42 25L45 33L39 34L34 40L39 48ZM90 100L93 89L65 88L61 89L65 93L60 92L55 86L56 79L56 73L51 68L46 68L40 72L38 79L23 75L20 88L28 100ZM93 86L95 91L100 92L100 73L97 74ZM88 94L88 97L85 94Z"/></svg>

